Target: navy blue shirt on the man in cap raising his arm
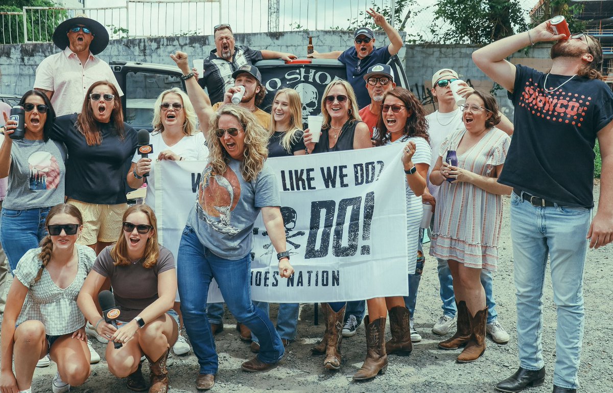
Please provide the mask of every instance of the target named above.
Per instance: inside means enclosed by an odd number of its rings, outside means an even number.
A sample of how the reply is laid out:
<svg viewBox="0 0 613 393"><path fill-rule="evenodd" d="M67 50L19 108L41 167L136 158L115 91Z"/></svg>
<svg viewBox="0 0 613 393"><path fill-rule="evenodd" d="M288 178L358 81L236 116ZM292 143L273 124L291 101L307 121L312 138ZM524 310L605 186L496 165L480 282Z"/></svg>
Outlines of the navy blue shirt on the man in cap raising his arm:
<svg viewBox="0 0 613 393"><path fill-rule="evenodd" d="M366 81L364 80L368 67L374 66L377 63L386 64L391 57L392 55L389 54L387 45L383 48L374 48L373 52L364 59L357 58L356 47L351 47L338 56L338 61L345 64L347 82L351 83L353 91L356 93L357 107L364 108L370 104L370 96L368 95Z"/></svg>

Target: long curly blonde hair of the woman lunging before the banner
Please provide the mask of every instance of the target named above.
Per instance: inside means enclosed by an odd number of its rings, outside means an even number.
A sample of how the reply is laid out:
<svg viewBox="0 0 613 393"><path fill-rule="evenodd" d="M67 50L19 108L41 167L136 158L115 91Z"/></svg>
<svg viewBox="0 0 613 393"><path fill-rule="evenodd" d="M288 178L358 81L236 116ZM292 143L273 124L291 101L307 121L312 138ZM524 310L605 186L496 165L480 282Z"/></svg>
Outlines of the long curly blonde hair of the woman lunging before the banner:
<svg viewBox="0 0 613 393"><path fill-rule="evenodd" d="M238 105L224 105L211 118L207 130L210 166L216 174L224 174L230 162L230 155L215 135L222 115L234 116L245 130L245 151L240 164L240 173L245 181L256 180L264 167L264 161L268 158L268 131L261 126L253 113Z"/></svg>

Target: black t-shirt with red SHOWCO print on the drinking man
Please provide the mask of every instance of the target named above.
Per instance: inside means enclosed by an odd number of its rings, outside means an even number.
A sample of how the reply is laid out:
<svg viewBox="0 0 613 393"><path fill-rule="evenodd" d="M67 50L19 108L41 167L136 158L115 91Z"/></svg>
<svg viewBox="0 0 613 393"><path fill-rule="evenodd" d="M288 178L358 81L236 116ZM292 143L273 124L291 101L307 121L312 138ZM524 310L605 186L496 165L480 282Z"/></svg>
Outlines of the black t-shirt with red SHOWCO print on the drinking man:
<svg viewBox="0 0 613 393"><path fill-rule="evenodd" d="M594 205L596 133L613 120L613 93L601 80L517 65L509 99L515 131L498 181L563 206Z"/></svg>

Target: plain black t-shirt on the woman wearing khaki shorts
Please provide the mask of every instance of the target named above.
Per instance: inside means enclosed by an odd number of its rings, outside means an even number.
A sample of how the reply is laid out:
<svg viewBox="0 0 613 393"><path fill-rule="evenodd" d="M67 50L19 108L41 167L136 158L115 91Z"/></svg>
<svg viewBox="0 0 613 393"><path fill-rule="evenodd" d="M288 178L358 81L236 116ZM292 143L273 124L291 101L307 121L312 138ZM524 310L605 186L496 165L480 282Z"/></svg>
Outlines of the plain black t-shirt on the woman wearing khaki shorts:
<svg viewBox="0 0 613 393"><path fill-rule="evenodd" d="M88 204L126 203L126 174L136 151L136 131L123 123L121 140L113 123L98 123L102 143L88 146L76 121L76 113L59 116L51 132L51 139L64 142L68 151L66 196Z"/></svg>

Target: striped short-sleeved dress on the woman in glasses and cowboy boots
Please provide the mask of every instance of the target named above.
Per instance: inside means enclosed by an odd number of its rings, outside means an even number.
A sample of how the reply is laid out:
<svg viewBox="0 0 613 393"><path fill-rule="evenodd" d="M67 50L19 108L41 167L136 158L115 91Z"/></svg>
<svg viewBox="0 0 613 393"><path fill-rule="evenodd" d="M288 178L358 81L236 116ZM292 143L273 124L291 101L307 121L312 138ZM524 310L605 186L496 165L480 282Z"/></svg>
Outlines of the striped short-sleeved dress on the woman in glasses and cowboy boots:
<svg viewBox="0 0 613 393"><path fill-rule="evenodd" d="M438 155L457 150L465 129L447 135ZM488 131L473 147L458 156L458 167L495 177L504 163L511 138L497 128ZM502 225L501 195L487 193L471 183L443 181L436 202L430 255L462 262L466 267L495 271Z"/></svg>

